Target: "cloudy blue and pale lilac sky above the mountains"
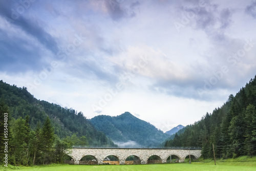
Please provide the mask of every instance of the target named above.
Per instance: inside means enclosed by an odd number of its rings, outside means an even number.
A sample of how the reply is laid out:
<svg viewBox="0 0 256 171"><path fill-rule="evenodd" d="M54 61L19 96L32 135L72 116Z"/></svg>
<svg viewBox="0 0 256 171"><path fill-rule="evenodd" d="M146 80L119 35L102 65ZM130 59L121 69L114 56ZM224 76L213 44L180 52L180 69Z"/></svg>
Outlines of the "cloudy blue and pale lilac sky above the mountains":
<svg viewBox="0 0 256 171"><path fill-rule="evenodd" d="M0 79L167 131L256 74L256 1L0 0Z"/></svg>

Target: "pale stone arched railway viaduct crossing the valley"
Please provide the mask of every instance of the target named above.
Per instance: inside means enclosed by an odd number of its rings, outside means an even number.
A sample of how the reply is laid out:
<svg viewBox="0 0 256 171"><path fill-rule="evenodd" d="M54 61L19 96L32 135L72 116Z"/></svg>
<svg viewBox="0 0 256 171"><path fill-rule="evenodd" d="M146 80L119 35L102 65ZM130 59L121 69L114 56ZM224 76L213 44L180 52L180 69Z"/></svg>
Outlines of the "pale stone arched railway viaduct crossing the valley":
<svg viewBox="0 0 256 171"><path fill-rule="evenodd" d="M137 157L139 164L147 164L151 156L158 157L158 163L166 163L167 158L171 156L178 162L184 162L189 156L198 159L201 156L200 148L103 148L103 147L73 147L70 149L69 156L72 157L74 164L79 164L84 156L93 156L95 164L103 164L103 160L112 155L117 158L116 164L126 164L129 156ZM105 161L104 161L105 162ZM81 164L81 163L80 163Z"/></svg>

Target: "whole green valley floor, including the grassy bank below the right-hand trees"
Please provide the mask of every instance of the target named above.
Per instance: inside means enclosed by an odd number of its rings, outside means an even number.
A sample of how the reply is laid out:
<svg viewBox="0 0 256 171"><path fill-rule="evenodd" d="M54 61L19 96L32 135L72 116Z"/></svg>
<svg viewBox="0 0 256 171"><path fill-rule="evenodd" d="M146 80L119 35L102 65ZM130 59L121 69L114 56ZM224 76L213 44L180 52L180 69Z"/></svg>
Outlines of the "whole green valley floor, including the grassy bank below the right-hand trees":
<svg viewBox="0 0 256 171"><path fill-rule="evenodd" d="M125 170L125 171L136 171L136 170L175 170L175 171L216 171L216 170L227 170L227 171L250 171L256 170L256 156L242 156L236 159L218 159L216 165L211 159L198 159L192 161L191 164L186 159L184 163L170 163L170 164L143 164L143 165L68 165L68 164L51 164L51 165L40 165L40 166L18 166L14 167L9 165L8 168L0 166L0 170L21 170L21 171L70 171L70 170Z"/></svg>

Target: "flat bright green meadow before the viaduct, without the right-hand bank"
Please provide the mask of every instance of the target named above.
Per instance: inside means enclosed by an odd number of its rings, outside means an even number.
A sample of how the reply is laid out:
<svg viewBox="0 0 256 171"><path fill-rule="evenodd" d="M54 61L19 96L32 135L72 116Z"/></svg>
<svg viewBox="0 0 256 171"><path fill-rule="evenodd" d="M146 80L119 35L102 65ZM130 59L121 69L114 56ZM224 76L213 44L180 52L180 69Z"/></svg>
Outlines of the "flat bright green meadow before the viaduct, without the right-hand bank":
<svg viewBox="0 0 256 171"><path fill-rule="evenodd" d="M3 167L1 167L3 168ZM17 167L16 167L17 168ZM8 169L10 170L10 169ZM201 163L195 162L192 164L189 163L177 163L177 164L147 164L147 165L55 165L55 166L34 166L34 167L19 167L19 169L12 170L21 170L21 171L70 171L70 170L230 170L230 171L242 171L242 170L256 170L256 162L226 162L226 163Z"/></svg>

